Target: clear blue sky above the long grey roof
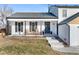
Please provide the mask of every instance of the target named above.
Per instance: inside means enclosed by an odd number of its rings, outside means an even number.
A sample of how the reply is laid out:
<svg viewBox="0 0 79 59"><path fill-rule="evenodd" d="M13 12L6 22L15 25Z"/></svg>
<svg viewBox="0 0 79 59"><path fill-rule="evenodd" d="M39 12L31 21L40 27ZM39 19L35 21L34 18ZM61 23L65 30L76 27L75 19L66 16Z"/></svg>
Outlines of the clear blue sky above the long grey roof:
<svg viewBox="0 0 79 59"><path fill-rule="evenodd" d="M0 7L5 4L0 4ZM14 12L48 12L48 4L7 4Z"/></svg>

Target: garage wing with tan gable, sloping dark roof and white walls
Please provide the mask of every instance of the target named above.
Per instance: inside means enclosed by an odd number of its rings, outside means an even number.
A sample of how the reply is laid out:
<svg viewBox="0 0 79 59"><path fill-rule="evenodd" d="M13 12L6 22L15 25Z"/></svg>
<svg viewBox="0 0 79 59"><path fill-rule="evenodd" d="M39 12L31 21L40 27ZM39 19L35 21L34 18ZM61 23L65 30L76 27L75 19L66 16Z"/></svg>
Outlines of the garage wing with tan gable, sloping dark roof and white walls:
<svg viewBox="0 0 79 59"><path fill-rule="evenodd" d="M59 24L59 37L70 46L79 45L79 13Z"/></svg>

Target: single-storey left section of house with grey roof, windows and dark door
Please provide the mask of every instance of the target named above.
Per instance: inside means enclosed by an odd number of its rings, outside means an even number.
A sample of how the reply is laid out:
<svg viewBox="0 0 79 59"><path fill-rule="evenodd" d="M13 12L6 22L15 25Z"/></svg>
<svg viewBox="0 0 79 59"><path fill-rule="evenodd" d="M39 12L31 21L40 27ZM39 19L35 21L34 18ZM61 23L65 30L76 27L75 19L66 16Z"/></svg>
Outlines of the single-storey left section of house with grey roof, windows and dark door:
<svg viewBox="0 0 79 59"><path fill-rule="evenodd" d="M17 12L7 17L8 35L57 35L58 17L52 13Z"/></svg>

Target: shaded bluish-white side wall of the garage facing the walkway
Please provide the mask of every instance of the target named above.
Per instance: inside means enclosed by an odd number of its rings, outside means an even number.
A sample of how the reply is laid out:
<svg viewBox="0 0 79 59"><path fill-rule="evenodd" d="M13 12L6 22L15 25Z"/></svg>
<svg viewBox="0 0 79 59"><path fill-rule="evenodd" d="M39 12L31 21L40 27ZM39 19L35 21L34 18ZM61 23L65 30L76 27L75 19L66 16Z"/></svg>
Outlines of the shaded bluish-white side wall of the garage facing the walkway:
<svg viewBox="0 0 79 59"><path fill-rule="evenodd" d="M59 37L67 44L69 44L69 27L67 24L58 26L58 35Z"/></svg>

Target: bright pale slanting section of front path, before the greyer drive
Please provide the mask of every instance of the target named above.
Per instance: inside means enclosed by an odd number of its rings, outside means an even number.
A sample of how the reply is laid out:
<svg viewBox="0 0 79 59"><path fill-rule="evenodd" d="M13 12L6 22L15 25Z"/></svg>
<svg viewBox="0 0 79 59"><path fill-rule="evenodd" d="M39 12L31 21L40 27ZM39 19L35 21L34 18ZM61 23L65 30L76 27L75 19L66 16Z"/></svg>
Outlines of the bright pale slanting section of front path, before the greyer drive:
<svg viewBox="0 0 79 59"><path fill-rule="evenodd" d="M62 42L59 42L55 38L47 37L48 43L51 45L51 48L53 49L58 49L58 48L63 48L64 45Z"/></svg>

